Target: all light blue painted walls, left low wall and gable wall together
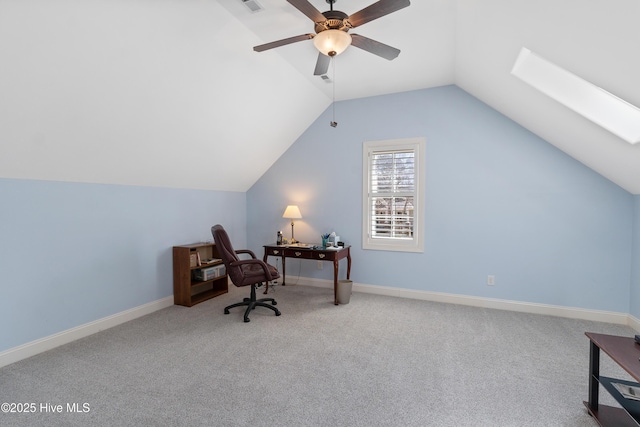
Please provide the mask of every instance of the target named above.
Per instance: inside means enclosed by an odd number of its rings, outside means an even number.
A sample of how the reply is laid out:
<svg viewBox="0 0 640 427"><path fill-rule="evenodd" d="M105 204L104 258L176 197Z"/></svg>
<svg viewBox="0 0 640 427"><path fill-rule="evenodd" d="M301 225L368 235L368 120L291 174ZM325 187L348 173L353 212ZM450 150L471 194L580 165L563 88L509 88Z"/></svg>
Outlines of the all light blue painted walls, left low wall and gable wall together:
<svg viewBox="0 0 640 427"><path fill-rule="evenodd" d="M0 351L172 295L171 247L336 231L357 283L640 317L640 196L455 86L336 104L245 194L0 179ZM362 142L424 136L422 254L361 249ZM313 262L289 274L331 279ZM486 276L496 276L487 286Z"/></svg>

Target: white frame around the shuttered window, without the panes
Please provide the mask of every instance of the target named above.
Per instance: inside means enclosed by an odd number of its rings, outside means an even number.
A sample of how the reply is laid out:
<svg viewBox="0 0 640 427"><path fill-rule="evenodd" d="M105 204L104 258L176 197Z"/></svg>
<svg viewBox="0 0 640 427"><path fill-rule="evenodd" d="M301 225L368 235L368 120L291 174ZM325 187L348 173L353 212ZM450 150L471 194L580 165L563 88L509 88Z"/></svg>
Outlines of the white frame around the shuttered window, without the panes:
<svg viewBox="0 0 640 427"><path fill-rule="evenodd" d="M390 139L384 141L365 141L362 144L362 248L382 251L424 252L424 176L425 176L424 138ZM371 156L381 151L414 152L414 200L413 234L410 238L376 237L371 235Z"/></svg>

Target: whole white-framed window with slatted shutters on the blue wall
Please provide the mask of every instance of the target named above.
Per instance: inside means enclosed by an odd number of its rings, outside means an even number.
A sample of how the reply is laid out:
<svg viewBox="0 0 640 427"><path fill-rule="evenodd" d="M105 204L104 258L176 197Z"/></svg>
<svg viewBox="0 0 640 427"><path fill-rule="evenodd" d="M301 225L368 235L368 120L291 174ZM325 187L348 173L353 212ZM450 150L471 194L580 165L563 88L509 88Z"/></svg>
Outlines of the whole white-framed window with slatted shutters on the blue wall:
<svg viewBox="0 0 640 427"><path fill-rule="evenodd" d="M363 249L423 252L424 138L363 144Z"/></svg>

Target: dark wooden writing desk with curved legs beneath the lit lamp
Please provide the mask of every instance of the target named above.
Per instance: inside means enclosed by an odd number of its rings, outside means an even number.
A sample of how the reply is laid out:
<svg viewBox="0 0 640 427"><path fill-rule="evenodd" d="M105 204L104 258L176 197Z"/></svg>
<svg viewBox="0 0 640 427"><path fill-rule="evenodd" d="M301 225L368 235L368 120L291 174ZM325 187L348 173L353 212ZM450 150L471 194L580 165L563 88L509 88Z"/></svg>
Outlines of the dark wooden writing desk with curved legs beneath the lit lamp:
<svg viewBox="0 0 640 427"><path fill-rule="evenodd" d="M264 262L269 256L282 258L282 286L285 285L287 258L314 259L317 261L333 262L333 303L338 305L338 265L341 259L347 259L347 280L351 275L351 246L345 246L340 250L331 249L310 249L278 245L264 246Z"/></svg>

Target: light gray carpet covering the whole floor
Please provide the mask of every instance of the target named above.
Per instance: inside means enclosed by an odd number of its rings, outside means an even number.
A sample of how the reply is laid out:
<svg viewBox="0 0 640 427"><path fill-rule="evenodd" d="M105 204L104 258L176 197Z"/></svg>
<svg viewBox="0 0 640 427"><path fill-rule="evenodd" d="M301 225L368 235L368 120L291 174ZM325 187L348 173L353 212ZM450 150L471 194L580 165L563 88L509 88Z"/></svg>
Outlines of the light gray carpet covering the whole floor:
<svg viewBox="0 0 640 427"><path fill-rule="evenodd" d="M584 332L634 333L360 293L334 306L330 290L303 286L270 293L280 317L223 314L247 295L230 287L0 369L2 402L38 405L0 425L595 426ZM603 375L628 378L601 359Z"/></svg>

